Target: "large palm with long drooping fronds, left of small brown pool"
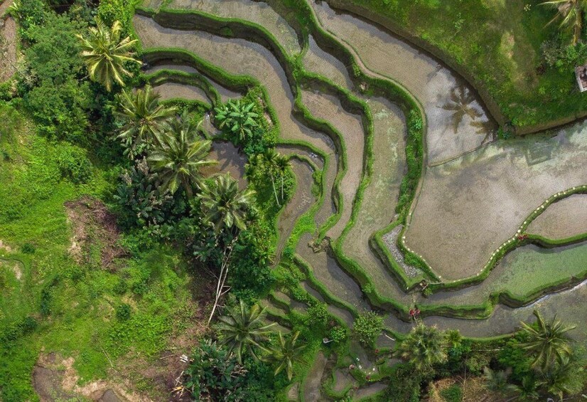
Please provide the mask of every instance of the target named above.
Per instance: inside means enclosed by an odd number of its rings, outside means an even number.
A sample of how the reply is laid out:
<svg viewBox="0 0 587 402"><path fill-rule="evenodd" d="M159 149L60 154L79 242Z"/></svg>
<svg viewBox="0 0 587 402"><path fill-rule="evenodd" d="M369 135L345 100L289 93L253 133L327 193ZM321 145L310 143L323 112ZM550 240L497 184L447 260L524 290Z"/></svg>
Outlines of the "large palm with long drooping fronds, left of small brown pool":
<svg viewBox="0 0 587 402"><path fill-rule="evenodd" d="M158 147L148 158L154 171L160 172L164 189L175 193L180 186L185 194L191 197L193 186L200 184L202 176L200 167L215 164L216 161L206 160L212 142L208 139L197 139L197 129L185 113L166 125L165 132L154 132Z"/></svg>

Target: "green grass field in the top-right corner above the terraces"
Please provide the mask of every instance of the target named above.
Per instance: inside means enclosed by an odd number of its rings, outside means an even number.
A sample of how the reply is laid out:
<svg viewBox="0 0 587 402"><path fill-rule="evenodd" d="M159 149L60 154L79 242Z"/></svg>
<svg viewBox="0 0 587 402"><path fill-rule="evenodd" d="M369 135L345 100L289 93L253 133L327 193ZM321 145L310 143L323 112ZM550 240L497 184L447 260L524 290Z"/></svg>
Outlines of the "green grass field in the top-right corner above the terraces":
<svg viewBox="0 0 587 402"><path fill-rule="evenodd" d="M556 35L553 11L522 0L345 0L384 16L421 38L472 76L495 99L506 121L529 127L587 110L571 68L546 69L541 44ZM529 9L524 6L529 4ZM569 43L568 34L564 41Z"/></svg>

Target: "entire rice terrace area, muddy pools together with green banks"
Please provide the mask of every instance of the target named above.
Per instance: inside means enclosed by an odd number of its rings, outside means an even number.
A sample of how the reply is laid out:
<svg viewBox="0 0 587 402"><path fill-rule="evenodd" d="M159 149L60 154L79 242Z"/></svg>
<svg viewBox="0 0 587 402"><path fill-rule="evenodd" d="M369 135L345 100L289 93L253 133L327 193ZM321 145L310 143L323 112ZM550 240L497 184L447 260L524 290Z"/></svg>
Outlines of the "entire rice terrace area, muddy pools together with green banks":
<svg viewBox="0 0 587 402"><path fill-rule="evenodd" d="M149 1L134 16L163 99L211 110L246 91L226 77L264 88L297 181L279 216L276 265L289 247L306 275L299 290L350 327L361 312L382 314L381 347L411 329L414 307L426 324L478 338L513 332L536 307L587 320L587 124L497 140L475 90L441 61L328 1L301 1L304 27L298 11L272 0ZM424 117L423 166L398 214L409 102ZM246 185L238 149L215 142L212 153L220 164L207 174L230 171ZM296 233L301 218L314 230ZM308 307L285 289L264 305L284 328L288 312ZM311 369L334 393L352 385L335 367L320 353ZM308 380L290 393L314 400L319 386ZM357 394L381 391L368 388Z"/></svg>

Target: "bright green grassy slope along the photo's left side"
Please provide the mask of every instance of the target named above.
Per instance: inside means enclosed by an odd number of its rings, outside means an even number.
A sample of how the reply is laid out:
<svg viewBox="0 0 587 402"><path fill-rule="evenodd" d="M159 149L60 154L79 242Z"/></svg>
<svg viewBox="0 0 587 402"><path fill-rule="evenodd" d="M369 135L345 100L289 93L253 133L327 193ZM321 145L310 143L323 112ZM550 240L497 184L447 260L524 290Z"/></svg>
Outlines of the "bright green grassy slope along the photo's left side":
<svg viewBox="0 0 587 402"><path fill-rule="evenodd" d="M68 253L72 228L63 204L85 194L104 196L112 171L94 167L87 184L72 184L61 177L58 155L74 146L38 137L9 106L0 105L0 118L6 122L0 132L0 239L12 248L0 250L0 399L37 400L31 373L41 349L72 356L82 383L112 376L109 358L131 366L125 375L140 385L141 364L132 362L156 359L195 310L181 253L156 245L107 270L99 263L98 238L89 261L77 264ZM34 253L21 252L26 243ZM12 260L22 262L20 280ZM131 305L126 321L115 316L122 303ZM23 329L26 317L36 320L36 329ZM145 391L152 393L152 386Z"/></svg>

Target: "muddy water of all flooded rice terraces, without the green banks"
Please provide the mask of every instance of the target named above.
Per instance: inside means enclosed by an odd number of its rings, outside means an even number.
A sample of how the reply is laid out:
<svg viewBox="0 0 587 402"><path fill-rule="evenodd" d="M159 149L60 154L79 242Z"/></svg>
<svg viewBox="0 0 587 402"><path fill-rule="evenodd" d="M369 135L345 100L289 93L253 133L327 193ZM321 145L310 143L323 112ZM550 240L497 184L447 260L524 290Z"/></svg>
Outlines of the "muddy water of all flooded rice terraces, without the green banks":
<svg viewBox="0 0 587 402"><path fill-rule="evenodd" d="M473 88L446 68L409 43L384 28L350 14L331 9L325 1L309 1L318 23L355 55L365 73L399 83L421 104L426 115L427 164L421 191L406 230L406 244L429 262L443 280L456 280L476 275L492 253L511 238L519 225L545 199L558 191L586 184L587 125L577 124L561 129L556 136L543 135L495 142L495 123L488 115ZM153 19L135 16L136 33L144 48L183 48L217 65L232 75L249 75L258 80L269 95L279 125L279 152L299 155L292 158L297 188L291 201L279 216L277 258L284 248L298 217L316 206L313 219L316 228L332 226L325 235L335 241L347 229L341 249L370 276L375 291L382 297L399 302L406 308L414 305L449 305L454 309L483 305L490 295L507 293L532 304L511 308L497 304L485 319L461 319L441 315L426 317L427 324L443 329L458 328L471 337L488 337L515 330L520 320L527 320L535 307L546 317L559 312L559 317L587 319L581 309L586 300L586 286L581 282L587 263L587 243L545 250L535 245L517 248L505 255L486 280L455 291L439 290L429 298L419 292L406 293L385 265L371 250L369 239L395 218L399 186L406 173L406 127L404 116L394 103L362 94L348 74L348 66L335 55L318 46L316 38L289 26L286 19L269 4L251 0L172 0L171 9L195 9L222 18L239 18L263 26L287 55L303 54L302 68L321 75L334 85L350 90L364 102L373 118L372 173L365 171L367 134L365 116L349 112L340 97L328 95L318 88L298 93L269 49L240 38L224 38L211 33L183 31L161 26ZM308 43L302 48L302 43ZM304 53L305 52L305 53ZM222 57L218 57L222 55ZM148 73L161 69L187 73L204 72L189 65L160 63L150 66ZM210 78L208 77L210 80ZM210 83L222 100L239 97L237 92ZM159 85L163 97L197 99L202 94L186 85ZM164 86L165 85L165 86ZM178 95L178 96L176 96ZM296 102L297 95L297 102ZM204 95L205 96L205 95ZM200 98L201 99L201 98ZM308 127L298 113L305 108L313 117L328 122L343 141L335 145L332 134ZM307 145L307 146L306 146ZM313 147L321 155L308 149ZM211 157L219 159L207 174L230 171L246 186L243 166L246 159L237 149L215 142ZM343 158L345 164L343 164ZM345 173L341 170L345 168ZM322 174L321 197L312 194L315 186L313 169ZM340 180L335 188L337 178ZM362 180L367 179L362 201L353 202ZM339 208L335 199L340 195ZM561 239L587 231L587 196L577 195L550 206L528 228L528 233ZM355 223L348 227L352 214ZM333 222L333 216L340 217ZM372 310L357 280L338 263L338 256L325 245L316 252L316 233L304 233L296 245L297 255L309 265L313 276L333 297L348 303L356 311ZM318 239L320 240L320 239ZM575 278L575 279L573 279ZM545 287L565 282L571 287L545 296ZM307 281L301 283L313 297L325 300L321 291ZM328 310L348 324L353 312L329 304ZM387 328L408 332L412 324L392 312L384 315ZM470 317L475 318L475 317ZM405 319L405 317L404 317ZM573 336L586 339L584 329ZM318 359L316 371L323 371L325 359ZM377 384L375 384L377 385ZM377 391L376 386L373 389ZM316 387L302 389L311 395ZM371 390L365 390L370 393Z"/></svg>

